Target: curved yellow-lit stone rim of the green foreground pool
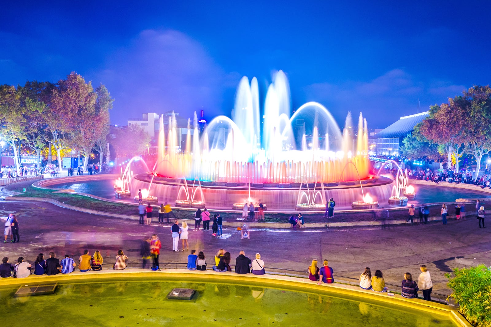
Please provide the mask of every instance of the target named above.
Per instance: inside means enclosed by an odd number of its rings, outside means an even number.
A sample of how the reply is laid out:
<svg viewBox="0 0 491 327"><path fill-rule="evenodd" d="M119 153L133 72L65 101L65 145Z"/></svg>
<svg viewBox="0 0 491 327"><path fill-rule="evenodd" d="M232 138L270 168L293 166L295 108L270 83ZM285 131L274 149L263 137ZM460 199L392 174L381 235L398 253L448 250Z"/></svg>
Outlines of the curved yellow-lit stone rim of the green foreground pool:
<svg viewBox="0 0 491 327"><path fill-rule="evenodd" d="M24 278L2 278L0 287L32 285L39 283L53 282L84 282L84 281L110 281L114 279L136 280L139 278L163 279L165 281L186 281L186 282L216 282L242 284L249 286L261 286L274 289L283 289L288 291L315 293L319 295L337 296L340 298L351 298L361 302L367 300L377 302L383 305L395 305L399 309L411 308L417 311L425 311L432 314L446 316L456 326L472 327L465 318L459 313L456 307L449 305L429 302L421 299L405 299L400 295L394 297L387 296L387 293L375 293L373 291L363 290L359 287L345 284L334 283L331 285L317 285L307 278L289 277L280 275L240 275L236 273L217 273L214 271L186 271L176 269L163 269L160 272L151 272L148 270L134 269L133 271L104 271L101 272L74 272L70 274L57 274L55 276L47 275L30 275Z"/></svg>

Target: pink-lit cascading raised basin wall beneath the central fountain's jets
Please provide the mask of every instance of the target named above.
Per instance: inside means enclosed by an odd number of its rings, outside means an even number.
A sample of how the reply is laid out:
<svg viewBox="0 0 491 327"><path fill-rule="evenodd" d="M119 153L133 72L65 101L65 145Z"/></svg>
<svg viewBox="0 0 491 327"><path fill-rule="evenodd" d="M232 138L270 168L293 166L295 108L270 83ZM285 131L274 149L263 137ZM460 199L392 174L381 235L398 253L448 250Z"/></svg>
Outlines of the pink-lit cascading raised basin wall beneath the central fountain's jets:
<svg viewBox="0 0 491 327"><path fill-rule="evenodd" d="M360 182L356 183L231 183L192 181L160 176L153 178L152 174L141 173L131 180L131 190L147 189L164 202L201 201L209 209L242 210L249 198L254 203L267 203L270 211L292 212L298 210L322 211L325 205L319 207L297 207L298 203L319 202L319 199L333 197L336 206L350 207L362 197ZM363 191L370 192L375 199L386 199L392 191L392 180L382 176L361 181ZM151 184L151 185L150 185ZM343 184L343 185L342 185ZM194 186L193 186L194 185ZM310 197L310 201L307 197ZM189 198L189 200L188 200ZM322 201L324 202L324 201ZM187 202L176 203L176 206L191 207ZM256 207L257 208L257 207Z"/></svg>

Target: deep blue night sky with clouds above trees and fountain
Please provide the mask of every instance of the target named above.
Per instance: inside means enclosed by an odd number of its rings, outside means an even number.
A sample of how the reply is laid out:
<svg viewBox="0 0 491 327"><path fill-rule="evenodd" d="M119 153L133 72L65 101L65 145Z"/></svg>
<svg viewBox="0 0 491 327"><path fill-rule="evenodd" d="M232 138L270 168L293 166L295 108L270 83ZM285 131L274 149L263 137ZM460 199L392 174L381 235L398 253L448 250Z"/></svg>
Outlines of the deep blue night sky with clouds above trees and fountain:
<svg viewBox="0 0 491 327"><path fill-rule="evenodd" d="M278 69L293 108L318 101L340 126L350 110L383 128L418 98L425 111L490 83L490 1L44 2L2 4L0 83L76 71L106 84L113 124L230 115L242 76L258 78L264 100Z"/></svg>

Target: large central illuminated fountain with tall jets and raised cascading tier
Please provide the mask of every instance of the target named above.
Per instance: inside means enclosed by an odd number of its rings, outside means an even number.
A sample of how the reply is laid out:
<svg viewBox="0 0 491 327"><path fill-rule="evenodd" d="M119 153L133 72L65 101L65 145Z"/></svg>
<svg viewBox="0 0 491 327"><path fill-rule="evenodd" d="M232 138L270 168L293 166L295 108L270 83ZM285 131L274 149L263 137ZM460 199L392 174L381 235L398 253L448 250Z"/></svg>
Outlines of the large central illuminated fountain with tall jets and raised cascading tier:
<svg viewBox="0 0 491 327"><path fill-rule="evenodd" d="M246 77L239 83L233 119L214 118L200 136L195 115L188 134L182 136L184 149L174 114L165 129L161 116L156 164L148 173L134 176L131 189L150 190L148 183L153 183L153 193L164 201L192 201L185 194L192 198L193 191L180 190L197 180L201 200L206 198L210 208L226 209L246 200L258 204L263 199L271 210L286 211L296 209L301 183L309 190L316 184L317 190L322 189L322 196L314 194L311 199L324 201L329 193L345 206L359 198L358 187L351 187L350 181L371 183L366 187L377 198L390 192L391 180L369 178L367 123L361 113L357 130L348 113L343 133L317 102L308 102L291 115L288 80L279 71L268 87L263 118L261 122L258 82L253 78L249 83ZM308 203L308 196L300 202Z"/></svg>

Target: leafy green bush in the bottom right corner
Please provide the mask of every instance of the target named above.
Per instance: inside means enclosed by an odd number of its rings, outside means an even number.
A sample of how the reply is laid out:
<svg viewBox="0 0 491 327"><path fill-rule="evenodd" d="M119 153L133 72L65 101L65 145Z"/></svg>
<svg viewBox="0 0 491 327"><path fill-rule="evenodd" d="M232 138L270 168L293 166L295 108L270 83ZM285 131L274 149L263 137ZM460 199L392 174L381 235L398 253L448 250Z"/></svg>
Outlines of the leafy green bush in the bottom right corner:
<svg viewBox="0 0 491 327"><path fill-rule="evenodd" d="M491 326L491 271L485 265L455 268L455 277L445 274L453 292L448 297L459 303L460 312L473 326Z"/></svg>

